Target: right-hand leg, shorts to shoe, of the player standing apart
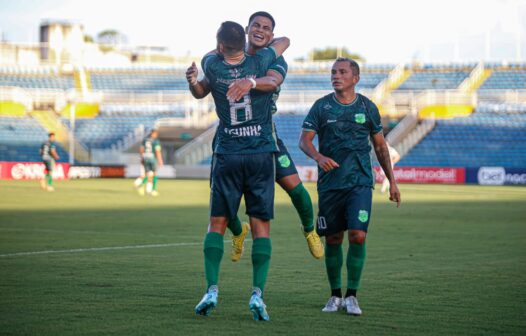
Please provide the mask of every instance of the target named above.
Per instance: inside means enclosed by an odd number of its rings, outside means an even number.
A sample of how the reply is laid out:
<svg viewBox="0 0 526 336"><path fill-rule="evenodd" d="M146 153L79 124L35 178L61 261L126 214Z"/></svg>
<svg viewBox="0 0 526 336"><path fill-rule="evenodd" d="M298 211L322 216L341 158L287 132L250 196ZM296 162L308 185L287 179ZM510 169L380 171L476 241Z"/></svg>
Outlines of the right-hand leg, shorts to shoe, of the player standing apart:
<svg viewBox="0 0 526 336"><path fill-rule="evenodd" d="M365 265L365 238L371 217L371 206L372 189L364 186L354 187L347 203L349 249L346 262L347 292L345 293L345 305L347 313L351 315L362 314L356 297Z"/></svg>

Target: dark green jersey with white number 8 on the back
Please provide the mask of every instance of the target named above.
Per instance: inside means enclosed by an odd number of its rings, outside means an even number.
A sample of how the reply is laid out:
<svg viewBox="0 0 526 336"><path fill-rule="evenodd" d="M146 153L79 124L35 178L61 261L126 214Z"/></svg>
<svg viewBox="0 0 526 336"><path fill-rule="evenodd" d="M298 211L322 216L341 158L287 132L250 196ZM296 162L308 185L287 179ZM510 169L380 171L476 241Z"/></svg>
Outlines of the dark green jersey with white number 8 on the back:
<svg viewBox="0 0 526 336"><path fill-rule="evenodd" d="M237 102L226 97L228 87L237 79L265 76L276 60L272 48L247 55L238 64L228 64L218 54L203 58L201 67L208 80L219 117L214 144L218 154L256 154L276 152L277 144L272 125L272 93L251 90Z"/></svg>

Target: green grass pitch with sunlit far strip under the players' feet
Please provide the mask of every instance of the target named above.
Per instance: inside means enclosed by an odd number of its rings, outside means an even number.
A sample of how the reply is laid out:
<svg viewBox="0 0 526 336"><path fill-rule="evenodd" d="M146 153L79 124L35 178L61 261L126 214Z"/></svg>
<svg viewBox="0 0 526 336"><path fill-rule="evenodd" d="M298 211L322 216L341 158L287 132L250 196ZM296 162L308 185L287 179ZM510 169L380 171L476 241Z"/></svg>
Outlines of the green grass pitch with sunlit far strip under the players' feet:
<svg viewBox="0 0 526 336"><path fill-rule="evenodd" d="M375 191L361 317L321 312L324 262L277 191L262 323L248 310L250 241L235 264L226 243L219 305L193 312L207 181L162 180L158 198L131 180L55 187L0 181L2 335L526 334L526 188L402 185L399 209Z"/></svg>

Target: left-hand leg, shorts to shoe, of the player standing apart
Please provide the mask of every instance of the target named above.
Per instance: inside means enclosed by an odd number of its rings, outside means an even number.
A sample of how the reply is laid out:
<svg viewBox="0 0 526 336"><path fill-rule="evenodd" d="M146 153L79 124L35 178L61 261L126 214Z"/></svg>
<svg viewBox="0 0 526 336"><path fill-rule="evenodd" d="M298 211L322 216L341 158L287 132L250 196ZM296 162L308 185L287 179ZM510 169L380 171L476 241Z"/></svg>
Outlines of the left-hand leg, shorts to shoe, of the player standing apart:
<svg viewBox="0 0 526 336"><path fill-rule="evenodd" d="M325 236L325 270L331 296L322 309L336 312L343 307L341 271L343 266L342 241L347 229L345 222L345 199L347 190L328 190L319 193L317 231Z"/></svg>

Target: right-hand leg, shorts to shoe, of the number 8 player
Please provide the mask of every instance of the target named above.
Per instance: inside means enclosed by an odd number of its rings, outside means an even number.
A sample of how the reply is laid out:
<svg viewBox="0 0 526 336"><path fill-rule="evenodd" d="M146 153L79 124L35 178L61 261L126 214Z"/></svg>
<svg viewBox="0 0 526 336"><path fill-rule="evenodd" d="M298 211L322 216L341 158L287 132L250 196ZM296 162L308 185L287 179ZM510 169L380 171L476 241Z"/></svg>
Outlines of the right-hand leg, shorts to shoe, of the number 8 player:
<svg viewBox="0 0 526 336"><path fill-rule="evenodd" d="M244 174L245 204L252 231L252 296L249 308L258 321L268 321L263 302L272 255L270 220L274 217L274 155L261 153L247 158Z"/></svg>

